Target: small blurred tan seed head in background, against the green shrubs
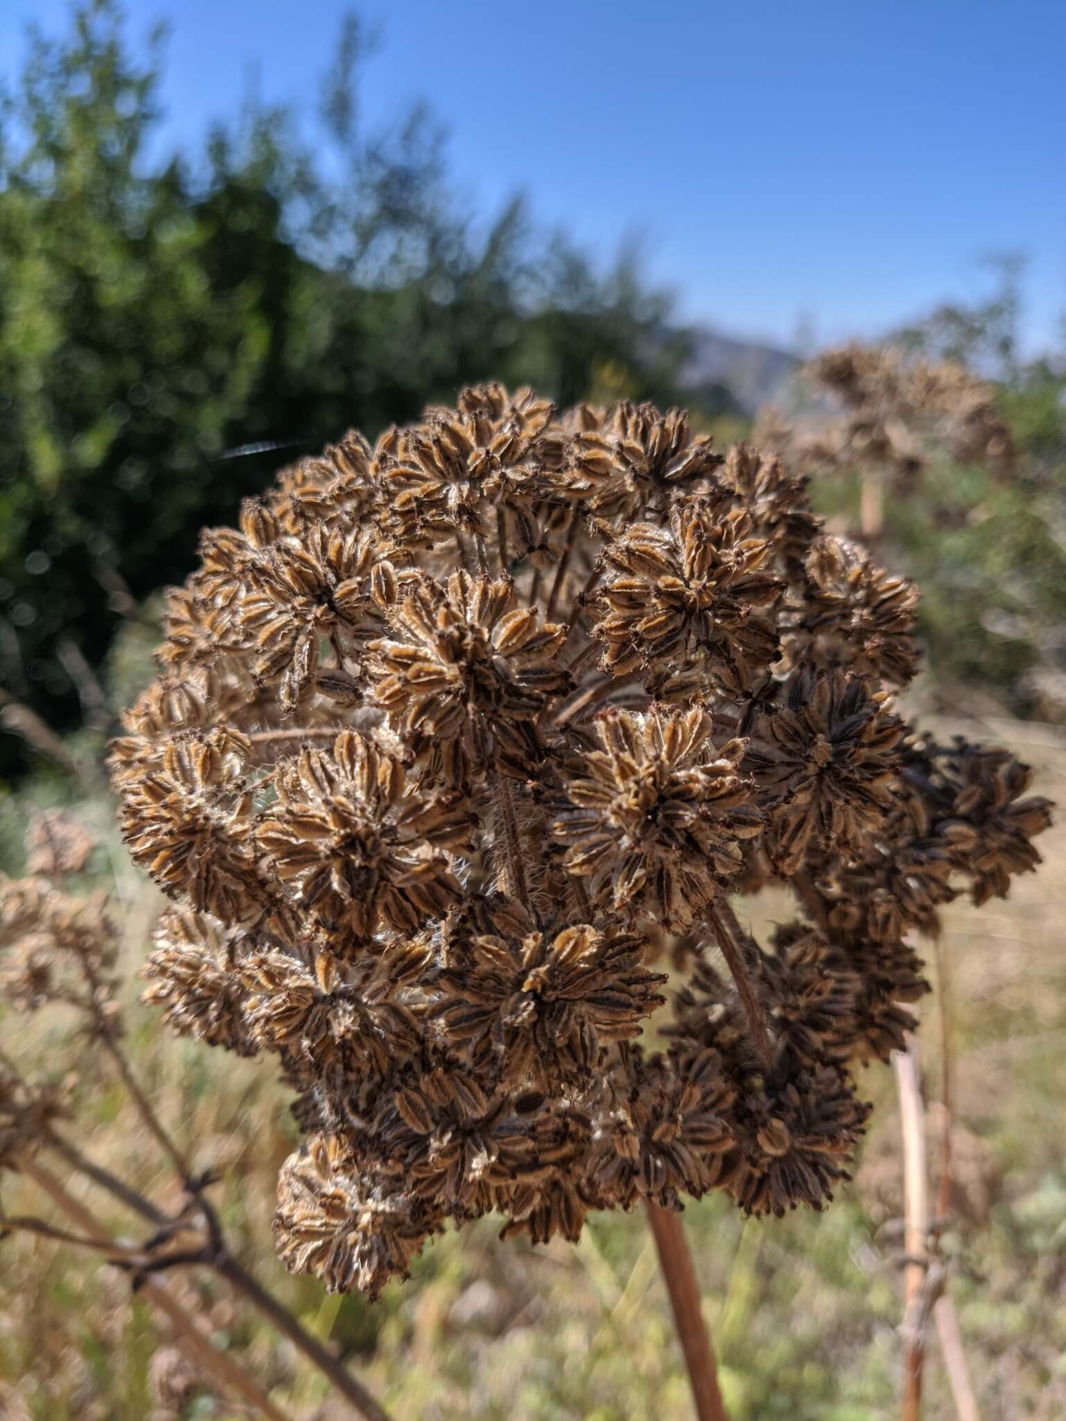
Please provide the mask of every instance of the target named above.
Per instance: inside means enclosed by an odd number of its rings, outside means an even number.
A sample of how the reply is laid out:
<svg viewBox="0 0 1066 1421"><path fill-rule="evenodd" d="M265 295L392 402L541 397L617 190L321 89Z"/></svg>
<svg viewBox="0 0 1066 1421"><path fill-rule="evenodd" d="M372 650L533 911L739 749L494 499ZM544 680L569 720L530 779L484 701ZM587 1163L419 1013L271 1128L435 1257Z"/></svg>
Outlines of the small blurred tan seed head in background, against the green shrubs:
<svg viewBox="0 0 1066 1421"><path fill-rule="evenodd" d="M932 449L994 472L1013 459L995 388L954 361L851 344L824 351L800 375L840 412L810 421L787 421L776 409L759 416L756 439L792 463L822 473L877 468L908 487Z"/></svg>

